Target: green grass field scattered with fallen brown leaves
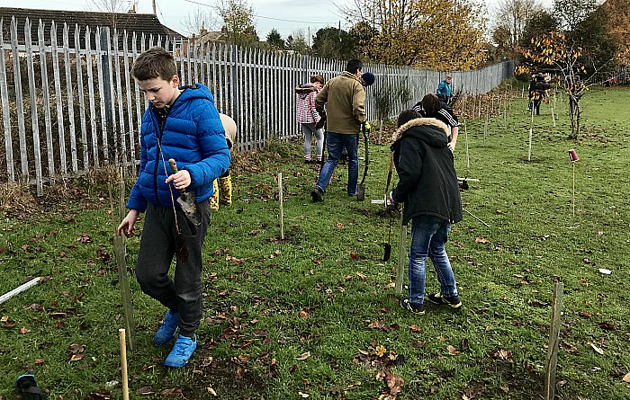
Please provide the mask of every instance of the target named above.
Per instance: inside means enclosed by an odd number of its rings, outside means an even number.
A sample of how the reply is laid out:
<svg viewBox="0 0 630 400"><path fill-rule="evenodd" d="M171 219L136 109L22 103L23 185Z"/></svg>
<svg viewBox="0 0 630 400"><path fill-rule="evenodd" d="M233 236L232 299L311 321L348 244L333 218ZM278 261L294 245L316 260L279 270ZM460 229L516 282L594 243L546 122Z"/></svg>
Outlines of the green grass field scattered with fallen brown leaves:
<svg viewBox="0 0 630 400"><path fill-rule="evenodd" d="M491 118L485 144L484 119L466 120L468 176L479 181L462 193L464 208L490 227L464 213L447 244L464 302L460 312L428 307L427 315L412 316L397 305L391 283L398 220L392 224L392 260L382 262L391 217L369 201L383 196L389 146L370 147L364 202L347 198L347 172L338 169L324 202L311 203L317 168L302 164L300 143L276 142L273 153L241 156L232 176L235 203L212 214L200 347L186 368L162 366L170 347L157 347L151 338L165 310L131 277L132 397L149 387L155 394L141 397L168 398L162 392L176 388L187 399L213 398L211 387L216 398L302 398L300 392L311 399L378 398L389 393L377 379L383 358L374 352L383 346L405 357L401 365L387 364L404 379L399 399L539 398L556 279L564 283L556 394L630 397L622 381L630 372L629 94L613 88L586 95L575 142L566 139L566 101L556 105L556 128L543 104L531 161L527 99L520 91L510 102L507 128L502 116ZM581 157L574 165L575 216L570 148ZM465 176L464 127L455 167ZM280 172L284 242L276 240ZM46 279L0 305L0 399L14 398L14 379L25 369L32 369L50 398L121 398L117 331L123 317L108 209L104 188L49 200L31 217L4 214L0 294L27 276ZM132 271L138 236L127 245ZM438 289L435 272L428 271L427 285ZM379 320L389 329L368 327ZM20 333L22 327L29 332ZM70 360L73 343L85 345L82 360ZM459 353L450 354L449 345ZM307 351L310 357L296 360ZM509 356L500 360L496 351Z"/></svg>

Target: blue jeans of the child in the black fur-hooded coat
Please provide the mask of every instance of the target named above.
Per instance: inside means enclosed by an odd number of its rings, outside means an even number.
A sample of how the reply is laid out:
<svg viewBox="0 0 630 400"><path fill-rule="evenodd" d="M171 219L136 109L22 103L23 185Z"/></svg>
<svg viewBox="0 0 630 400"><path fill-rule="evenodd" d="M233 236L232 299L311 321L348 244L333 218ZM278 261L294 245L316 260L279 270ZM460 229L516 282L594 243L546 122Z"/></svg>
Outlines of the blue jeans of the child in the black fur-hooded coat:
<svg viewBox="0 0 630 400"><path fill-rule="evenodd" d="M442 218L421 215L411 222L410 247L410 303L424 303L427 256L431 257L440 282L440 293L446 297L458 296L451 262L444 245L451 225Z"/></svg>

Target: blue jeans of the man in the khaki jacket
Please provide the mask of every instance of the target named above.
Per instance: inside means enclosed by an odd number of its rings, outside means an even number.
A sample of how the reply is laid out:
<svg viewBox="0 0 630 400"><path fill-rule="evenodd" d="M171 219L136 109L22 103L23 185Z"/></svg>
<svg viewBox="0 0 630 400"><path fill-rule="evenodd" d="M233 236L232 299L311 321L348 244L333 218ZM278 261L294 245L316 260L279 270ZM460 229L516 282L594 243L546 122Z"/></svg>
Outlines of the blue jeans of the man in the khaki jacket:
<svg viewBox="0 0 630 400"><path fill-rule="evenodd" d="M344 147L347 150L347 194L356 194L356 182L359 180L359 157L356 154L358 147L358 134L344 134L329 132L326 137L326 148L329 151L329 157L326 163L322 165L320 179L317 180L317 186L326 191L329 185L330 177L339 163L341 152Z"/></svg>

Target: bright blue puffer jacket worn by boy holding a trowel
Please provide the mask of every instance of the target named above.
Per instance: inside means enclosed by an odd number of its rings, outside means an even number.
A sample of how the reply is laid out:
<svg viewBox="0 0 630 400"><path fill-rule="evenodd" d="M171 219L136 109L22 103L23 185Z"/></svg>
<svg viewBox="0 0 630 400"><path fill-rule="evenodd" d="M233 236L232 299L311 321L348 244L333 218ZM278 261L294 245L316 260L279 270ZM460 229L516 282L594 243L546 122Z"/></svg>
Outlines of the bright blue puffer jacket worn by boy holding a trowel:
<svg viewBox="0 0 630 400"><path fill-rule="evenodd" d="M149 104L142 116L140 168L127 201L129 209L143 212L148 202L172 207L171 191L165 182L166 173L172 173L169 158L175 159L178 169L190 173L192 182L186 191L194 191L198 201L211 197L212 182L229 167L231 157L225 131L210 89L202 84L180 89L184 92L168 112L163 130L155 107ZM160 147L157 138L160 138ZM171 189L177 199L179 191L173 186Z"/></svg>

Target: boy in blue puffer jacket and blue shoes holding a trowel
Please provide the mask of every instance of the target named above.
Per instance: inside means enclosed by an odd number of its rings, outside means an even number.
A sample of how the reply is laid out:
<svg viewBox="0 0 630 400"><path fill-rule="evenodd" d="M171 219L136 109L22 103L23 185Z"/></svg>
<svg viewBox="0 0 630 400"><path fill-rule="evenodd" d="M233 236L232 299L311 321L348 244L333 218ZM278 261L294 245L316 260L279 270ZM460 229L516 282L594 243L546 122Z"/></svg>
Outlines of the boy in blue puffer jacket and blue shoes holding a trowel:
<svg viewBox="0 0 630 400"><path fill-rule="evenodd" d="M195 331L202 318L202 244L210 223L212 182L228 170L231 157L210 89L202 84L179 86L170 53L148 49L136 58L131 76L149 104L140 128L138 179L118 234L133 235L139 213L146 211L136 277L142 291L168 308L153 342L169 342L179 328L173 351L164 362L179 368L197 347ZM169 158L175 159L177 173L171 172ZM196 195L202 219L199 225L174 203L184 189ZM177 248L175 224L188 247L188 257L176 257L172 280L168 270Z"/></svg>

